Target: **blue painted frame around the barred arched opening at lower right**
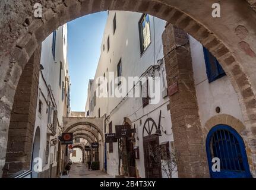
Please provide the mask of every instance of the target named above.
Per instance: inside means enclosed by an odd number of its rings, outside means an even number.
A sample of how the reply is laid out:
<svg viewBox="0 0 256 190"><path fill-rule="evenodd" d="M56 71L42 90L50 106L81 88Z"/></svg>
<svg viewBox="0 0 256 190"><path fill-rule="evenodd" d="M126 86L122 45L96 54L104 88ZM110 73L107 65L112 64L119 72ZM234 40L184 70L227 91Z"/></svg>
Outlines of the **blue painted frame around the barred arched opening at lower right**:
<svg viewBox="0 0 256 190"><path fill-rule="evenodd" d="M229 131L236 140L239 143L239 147L241 149L241 154L242 154L242 160L244 164L244 169L245 171L230 171L230 170L220 170L220 172L213 172L211 170L211 153L210 153L210 140L214 132L219 131L219 130L226 130ZM211 178L252 178L251 172L249 170L249 164L248 164L248 159L247 159L247 154L245 150L245 144L244 140L242 137L236 132L235 129L228 125L216 125L211 130L208 132L207 138L206 138L206 153L207 153L207 159L208 159L208 166L209 166L209 171L210 171L210 176Z"/></svg>

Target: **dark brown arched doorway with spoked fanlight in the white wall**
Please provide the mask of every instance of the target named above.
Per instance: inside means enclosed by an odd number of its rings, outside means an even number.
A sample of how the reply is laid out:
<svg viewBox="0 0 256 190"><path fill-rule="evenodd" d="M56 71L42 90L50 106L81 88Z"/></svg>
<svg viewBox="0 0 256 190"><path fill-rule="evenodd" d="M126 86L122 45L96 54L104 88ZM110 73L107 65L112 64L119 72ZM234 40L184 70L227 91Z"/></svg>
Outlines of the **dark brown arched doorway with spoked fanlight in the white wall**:
<svg viewBox="0 0 256 190"><path fill-rule="evenodd" d="M143 151L146 178L162 178L161 160L159 153L159 137L154 135L157 129L156 122L147 118L143 126Z"/></svg>

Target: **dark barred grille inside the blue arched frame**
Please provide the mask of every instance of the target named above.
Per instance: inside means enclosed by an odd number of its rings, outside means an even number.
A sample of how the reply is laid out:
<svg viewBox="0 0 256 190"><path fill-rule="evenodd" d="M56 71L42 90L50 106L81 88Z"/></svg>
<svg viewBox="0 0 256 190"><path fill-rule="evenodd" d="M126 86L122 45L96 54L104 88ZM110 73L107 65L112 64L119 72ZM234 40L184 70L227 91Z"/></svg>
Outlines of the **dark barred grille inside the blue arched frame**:
<svg viewBox="0 0 256 190"><path fill-rule="evenodd" d="M244 171L241 148L236 137L225 129L214 132L210 139L211 157L220 159L220 169Z"/></svg>

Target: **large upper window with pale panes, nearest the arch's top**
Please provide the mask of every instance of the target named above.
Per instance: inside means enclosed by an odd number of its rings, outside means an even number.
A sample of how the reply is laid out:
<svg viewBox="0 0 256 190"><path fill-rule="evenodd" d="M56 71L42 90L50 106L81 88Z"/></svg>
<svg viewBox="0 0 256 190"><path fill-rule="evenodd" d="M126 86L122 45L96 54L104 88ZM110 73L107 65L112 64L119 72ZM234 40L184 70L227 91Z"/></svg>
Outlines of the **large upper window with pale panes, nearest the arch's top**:
<svg viewBox="0 0 256 190"><path fill-rule="evenodd" d="M150 23L149 23L149 15L143 14L141 17L140 23L140 46L141 46L141 55L147 49L147 47L151 43L150 36Z"/></svg>

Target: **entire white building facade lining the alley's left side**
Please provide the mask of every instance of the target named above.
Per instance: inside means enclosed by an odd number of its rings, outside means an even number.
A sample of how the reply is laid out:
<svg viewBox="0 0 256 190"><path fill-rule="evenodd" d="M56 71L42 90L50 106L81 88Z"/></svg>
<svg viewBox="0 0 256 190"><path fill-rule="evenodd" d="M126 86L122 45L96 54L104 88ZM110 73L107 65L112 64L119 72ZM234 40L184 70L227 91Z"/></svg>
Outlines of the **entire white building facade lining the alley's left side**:
<svg viewBox="0 0 256 190"><path fill-rule="evenodd" d="M63 116L69 116L70 81L67 62L67 24L59 27L42 43L33 160L42 169L33 178L55 178L64 167L65 148L61 150ZM36 162L34 162L36 164Z"/></svg>

